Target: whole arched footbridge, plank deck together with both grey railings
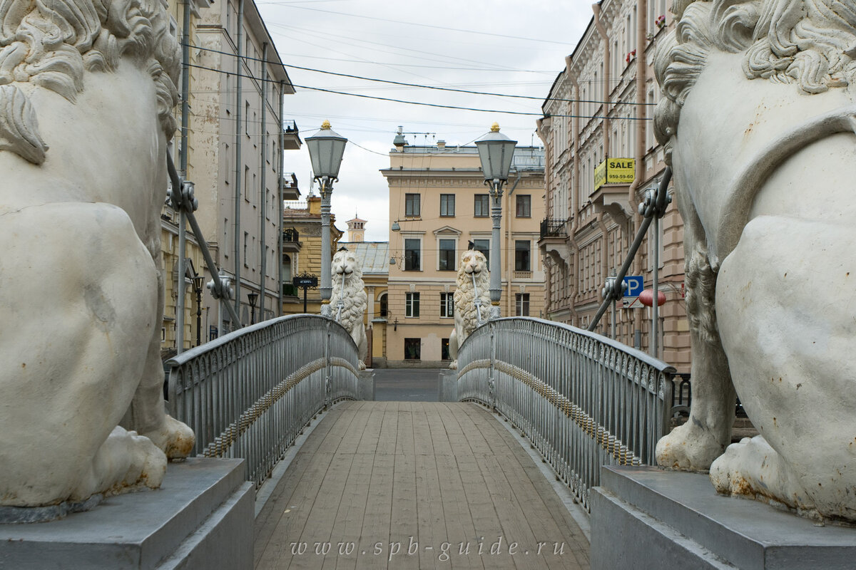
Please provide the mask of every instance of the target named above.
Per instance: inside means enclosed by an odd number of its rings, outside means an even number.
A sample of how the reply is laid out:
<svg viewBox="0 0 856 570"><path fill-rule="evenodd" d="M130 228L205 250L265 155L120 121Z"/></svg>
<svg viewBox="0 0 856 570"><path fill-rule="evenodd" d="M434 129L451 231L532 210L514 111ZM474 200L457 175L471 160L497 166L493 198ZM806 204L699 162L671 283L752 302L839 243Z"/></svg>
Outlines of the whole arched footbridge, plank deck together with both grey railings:
<svg viewBox="0 0 856 570"><path fill-rule="evenodd" d="M259 568L588 567L572 514L601 466L652 463L671 415L672 367L545 320L473 332L444 375L449 402L371 402L357 360L342 326L294 315L169 361L170 412L196 452L246 459L267 497Z"/></svg>

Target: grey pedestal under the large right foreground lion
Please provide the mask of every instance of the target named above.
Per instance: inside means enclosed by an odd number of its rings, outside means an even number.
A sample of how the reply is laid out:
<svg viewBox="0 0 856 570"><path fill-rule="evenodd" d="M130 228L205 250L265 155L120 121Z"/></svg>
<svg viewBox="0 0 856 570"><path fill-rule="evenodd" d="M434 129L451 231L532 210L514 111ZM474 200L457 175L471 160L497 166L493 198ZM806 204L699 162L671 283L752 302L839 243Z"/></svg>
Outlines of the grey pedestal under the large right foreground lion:
<svg viewBox="0 0 856 570"><path fill-rule="evenodd" d="M853 568L856 528L716 494L702 473L603 467L591 491L591 568Z"/></svg>

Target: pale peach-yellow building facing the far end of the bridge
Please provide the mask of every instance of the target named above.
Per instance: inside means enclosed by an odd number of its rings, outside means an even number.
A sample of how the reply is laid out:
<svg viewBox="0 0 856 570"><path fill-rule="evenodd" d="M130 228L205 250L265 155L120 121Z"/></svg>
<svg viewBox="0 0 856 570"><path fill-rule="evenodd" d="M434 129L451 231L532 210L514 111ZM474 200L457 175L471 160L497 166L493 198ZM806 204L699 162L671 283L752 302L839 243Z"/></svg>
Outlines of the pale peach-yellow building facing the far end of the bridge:
<svg viewBox="0 0 856 570"><path fill-rule="evenodd" d="M486 129L485 129L486 131ZM490 258L488 189L475 146L407 144L401 132L381 172L389 184L387 363L443 366L455 326L461 254ZM544 151L518 147L502 197L502 316L544 314L538 224L544 218Z"/></svg>

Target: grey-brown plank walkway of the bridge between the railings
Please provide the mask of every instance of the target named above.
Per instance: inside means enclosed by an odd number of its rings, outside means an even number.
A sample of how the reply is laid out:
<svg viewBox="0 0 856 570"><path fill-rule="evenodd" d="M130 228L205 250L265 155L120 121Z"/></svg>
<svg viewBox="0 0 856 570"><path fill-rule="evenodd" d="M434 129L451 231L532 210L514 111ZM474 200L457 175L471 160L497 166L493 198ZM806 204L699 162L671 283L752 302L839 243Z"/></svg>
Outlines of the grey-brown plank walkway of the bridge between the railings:
<svg viewBox="0 0 856 570"><path fill-rule="evenodd" d="M526 450L470 403L332 408L256 519L265 569L587 568L588 555Z"/></svg>

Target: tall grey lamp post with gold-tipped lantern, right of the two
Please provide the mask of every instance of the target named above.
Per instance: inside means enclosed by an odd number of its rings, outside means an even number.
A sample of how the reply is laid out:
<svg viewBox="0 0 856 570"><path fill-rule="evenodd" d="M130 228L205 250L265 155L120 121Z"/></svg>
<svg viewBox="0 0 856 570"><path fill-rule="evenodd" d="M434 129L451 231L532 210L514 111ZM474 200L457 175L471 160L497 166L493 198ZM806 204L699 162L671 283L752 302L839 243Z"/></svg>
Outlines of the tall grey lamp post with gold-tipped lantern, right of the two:
<svg viewBox="0 0 856 570"><path fill-rule="evenodd" d="M490 132L476 141L479 161L484 172L484 185L490 189L490 217L493 232L490 239L490 318L499 318L499 297L502 291L502 276L499 260L499 226L502 220L502 185L508 181L511 159L514 157L516 140L499 132L499 125L490 126Z"/></svg>

